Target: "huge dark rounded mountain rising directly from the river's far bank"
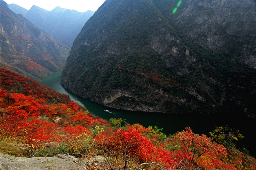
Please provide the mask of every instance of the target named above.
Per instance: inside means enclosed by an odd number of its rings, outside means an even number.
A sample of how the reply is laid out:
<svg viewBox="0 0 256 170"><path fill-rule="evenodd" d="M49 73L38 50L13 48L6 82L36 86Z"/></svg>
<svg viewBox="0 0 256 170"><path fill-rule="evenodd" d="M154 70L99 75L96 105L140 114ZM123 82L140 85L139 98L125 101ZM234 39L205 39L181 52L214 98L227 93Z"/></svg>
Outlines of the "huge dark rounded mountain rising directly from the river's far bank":
<svg viewBox="0 0 256 170"><path fill-rule="evenodd" d="M175 2L105 1L76 37L62 85L119 109L253 116L255 69L183 33L164 13Z"/></svg>

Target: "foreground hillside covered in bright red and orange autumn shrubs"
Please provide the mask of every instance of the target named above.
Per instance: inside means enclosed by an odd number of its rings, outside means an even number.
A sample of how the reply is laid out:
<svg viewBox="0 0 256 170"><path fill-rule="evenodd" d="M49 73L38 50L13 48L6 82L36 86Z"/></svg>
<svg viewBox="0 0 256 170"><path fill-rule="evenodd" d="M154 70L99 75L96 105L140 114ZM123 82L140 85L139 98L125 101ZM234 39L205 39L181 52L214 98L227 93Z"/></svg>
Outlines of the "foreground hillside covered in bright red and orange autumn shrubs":
<svg viewBox="0 0 256 170"><path fill-rule="evenodd" d="M8 145L0 147L2 153L27 157L65 153L81 159L101 155L109 163L103 169L256 168L256 160L230 142L244 136L228 128L217 128L213 138L196 135L189 127L166 136L157 127L93 117L67 95L4 68L0 80L0 143Z"/></svg>

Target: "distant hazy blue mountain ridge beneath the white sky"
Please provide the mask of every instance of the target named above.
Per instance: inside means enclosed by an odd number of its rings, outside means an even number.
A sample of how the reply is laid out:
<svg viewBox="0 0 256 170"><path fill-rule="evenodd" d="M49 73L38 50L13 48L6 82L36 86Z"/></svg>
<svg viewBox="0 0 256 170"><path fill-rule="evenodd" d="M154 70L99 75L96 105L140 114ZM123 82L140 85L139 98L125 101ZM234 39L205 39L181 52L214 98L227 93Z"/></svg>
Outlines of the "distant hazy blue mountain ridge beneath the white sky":
<svg viewBox="0 0 256 170"><path fill-rule="evenodd" d="M77 12L75 10L56 7L52 11L44 10L33 5L24 17L30 20L37 27L46 31L60 43L72 46L72 43L84 23L94 12Z"/></svg>

